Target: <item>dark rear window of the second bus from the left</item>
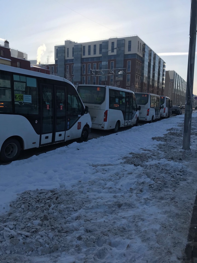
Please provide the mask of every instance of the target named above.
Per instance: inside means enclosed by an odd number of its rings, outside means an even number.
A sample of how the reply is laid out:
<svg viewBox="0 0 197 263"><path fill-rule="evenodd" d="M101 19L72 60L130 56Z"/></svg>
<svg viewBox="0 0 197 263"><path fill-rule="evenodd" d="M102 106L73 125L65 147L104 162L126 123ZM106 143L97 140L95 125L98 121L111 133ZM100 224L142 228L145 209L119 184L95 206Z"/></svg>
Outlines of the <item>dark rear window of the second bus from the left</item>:
<svg viewBox="0 0 197 263"><path fill-rule="evenodd" d="M105 100L105 87L78 86L77 92L83 103L102 104Z"/></svg>

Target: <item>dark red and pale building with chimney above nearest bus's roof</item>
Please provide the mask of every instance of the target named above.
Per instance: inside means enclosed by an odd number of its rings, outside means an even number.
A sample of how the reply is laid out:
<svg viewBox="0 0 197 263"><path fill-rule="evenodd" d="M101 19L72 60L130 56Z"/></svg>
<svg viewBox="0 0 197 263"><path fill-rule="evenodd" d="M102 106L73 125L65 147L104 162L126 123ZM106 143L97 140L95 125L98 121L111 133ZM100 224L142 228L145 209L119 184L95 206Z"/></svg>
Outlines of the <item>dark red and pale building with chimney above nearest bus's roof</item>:
<svg viewBox="0 0 197 263"><path fill-rule="evenodd" d="M4 43L0 43L0 64L30 70L30 62L27 60L27 54L10 48L7 40L5 40Z"/></svg>

